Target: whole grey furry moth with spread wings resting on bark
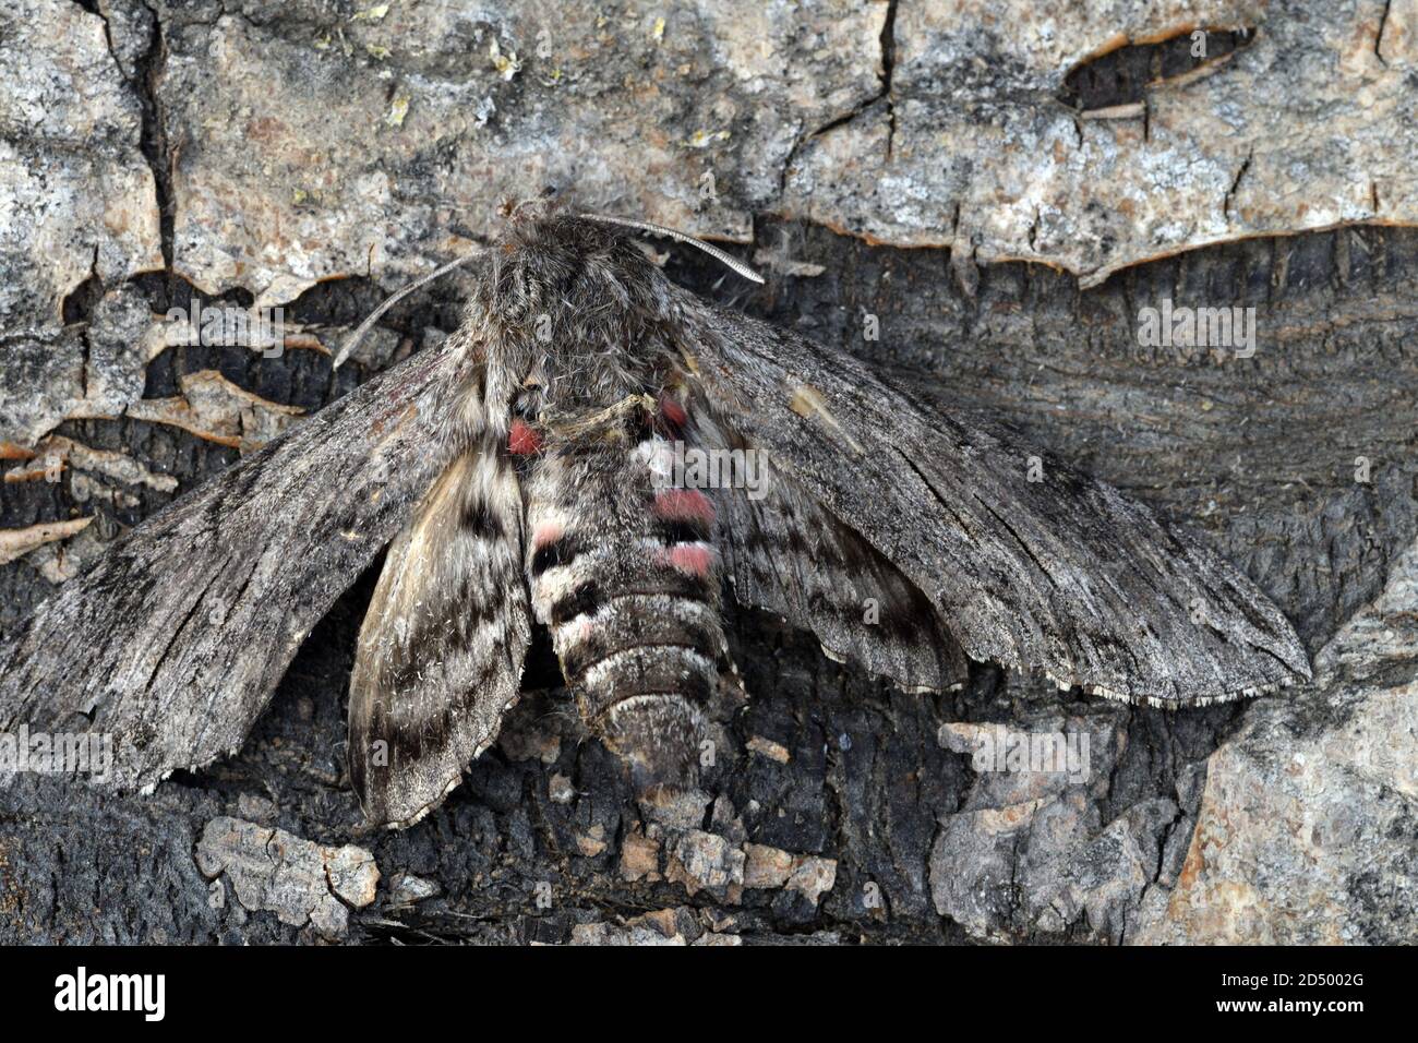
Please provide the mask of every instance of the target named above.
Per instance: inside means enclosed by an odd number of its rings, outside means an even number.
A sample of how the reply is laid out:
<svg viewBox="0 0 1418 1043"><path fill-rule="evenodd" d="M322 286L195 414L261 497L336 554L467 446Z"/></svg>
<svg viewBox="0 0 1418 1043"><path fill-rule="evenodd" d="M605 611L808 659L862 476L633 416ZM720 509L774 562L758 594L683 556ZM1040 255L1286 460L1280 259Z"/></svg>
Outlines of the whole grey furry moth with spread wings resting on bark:
<svg viewBox="0 0 1418 1043"><path fill-rule="evenodd" d="M516 211L441 348L170 504L9 634L0 727L109 732L123 788L208 765L381 551L349 775L391 826L495 739L533 626L634 779L691 785L735 677L726 590L906 691L970 660L1168 708L1309 678L1275 605L1185 532L676 287L631 231ZM766 481L675 481L688 451L761 454Z"/></svg>

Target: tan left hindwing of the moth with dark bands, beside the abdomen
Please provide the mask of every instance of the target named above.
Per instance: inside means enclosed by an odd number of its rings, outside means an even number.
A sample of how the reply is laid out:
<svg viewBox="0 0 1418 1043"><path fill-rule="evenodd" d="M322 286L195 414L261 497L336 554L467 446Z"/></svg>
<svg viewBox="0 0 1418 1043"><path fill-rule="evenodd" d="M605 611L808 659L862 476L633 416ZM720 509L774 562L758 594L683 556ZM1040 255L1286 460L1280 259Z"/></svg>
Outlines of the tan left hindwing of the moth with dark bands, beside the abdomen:
<svg viewBox="0 0 1418 1043"><path fill-rule="evenodd" d="M522 494L495 450L459 456L384 558L350 677L350 780L408 826L458 785L516 701L530 639Z"/></svg>

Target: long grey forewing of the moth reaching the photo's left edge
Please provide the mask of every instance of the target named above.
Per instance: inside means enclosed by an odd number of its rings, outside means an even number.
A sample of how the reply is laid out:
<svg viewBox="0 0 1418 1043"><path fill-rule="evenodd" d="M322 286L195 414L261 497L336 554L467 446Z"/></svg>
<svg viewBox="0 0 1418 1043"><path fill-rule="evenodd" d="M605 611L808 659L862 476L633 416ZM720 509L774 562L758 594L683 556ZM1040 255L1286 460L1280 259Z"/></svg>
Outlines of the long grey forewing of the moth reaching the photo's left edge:
<svg viewBox="0 0 1418 1043"><path fill-rule="evenodd" d="M455 365L415 355L126 534L0 643L0 731L109 732L122 788L234 752L438 474Z"/></svg>

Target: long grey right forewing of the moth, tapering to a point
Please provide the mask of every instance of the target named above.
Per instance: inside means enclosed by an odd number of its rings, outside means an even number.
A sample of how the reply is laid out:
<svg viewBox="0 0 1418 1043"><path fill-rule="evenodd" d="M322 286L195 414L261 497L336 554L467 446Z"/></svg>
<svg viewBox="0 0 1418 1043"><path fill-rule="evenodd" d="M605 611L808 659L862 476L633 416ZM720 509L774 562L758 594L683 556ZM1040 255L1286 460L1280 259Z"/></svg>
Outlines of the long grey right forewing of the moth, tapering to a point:
<svg viewBox="0 0 1418 1043"><path fill-rule="evenodd" d="M970 657L1168 707L1309 678L1254 583L1115 488L845 353L681 299L686 366L722 424L920 587Z"/></svg>

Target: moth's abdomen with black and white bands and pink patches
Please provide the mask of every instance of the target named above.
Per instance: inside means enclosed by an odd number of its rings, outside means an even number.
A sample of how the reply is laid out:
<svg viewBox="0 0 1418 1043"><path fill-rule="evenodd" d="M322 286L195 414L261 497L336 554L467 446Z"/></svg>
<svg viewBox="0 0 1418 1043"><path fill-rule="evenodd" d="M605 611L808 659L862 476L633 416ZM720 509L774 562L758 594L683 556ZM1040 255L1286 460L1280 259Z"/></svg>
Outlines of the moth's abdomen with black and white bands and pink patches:
<svg viewBox="0 0 1418 1043"><path fill-rule="evenodd" d="M523 481L533 610L583 719L645 785L692 780L727 663L713 505L657 488L665 451L607 424L539 453Z"/></svg>

